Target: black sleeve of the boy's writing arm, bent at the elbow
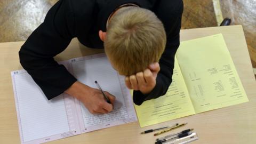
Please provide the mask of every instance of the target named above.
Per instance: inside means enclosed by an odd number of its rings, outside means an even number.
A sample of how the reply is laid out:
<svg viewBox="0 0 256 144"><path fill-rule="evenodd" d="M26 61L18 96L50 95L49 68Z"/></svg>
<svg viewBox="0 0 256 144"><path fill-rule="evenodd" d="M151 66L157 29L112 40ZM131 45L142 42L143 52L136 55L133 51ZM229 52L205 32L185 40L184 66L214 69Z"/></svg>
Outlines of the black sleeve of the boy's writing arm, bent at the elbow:
<svg viewBox="0 0 256 144"><path fill-rule="evenodd" d="M74 37L74 15L69 0L57 2L44 22L19 51L20 63L41 87L47 99L68 89L77 79L53 57L66 49Z"/></svg>

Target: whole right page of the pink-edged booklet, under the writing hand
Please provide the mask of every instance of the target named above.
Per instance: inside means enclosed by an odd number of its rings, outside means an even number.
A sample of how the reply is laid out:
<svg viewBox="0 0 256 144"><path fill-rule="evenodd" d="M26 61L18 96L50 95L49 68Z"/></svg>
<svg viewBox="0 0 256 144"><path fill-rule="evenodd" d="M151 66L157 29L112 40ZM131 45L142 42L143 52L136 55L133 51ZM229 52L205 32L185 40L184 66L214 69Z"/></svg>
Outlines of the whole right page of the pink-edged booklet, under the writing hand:
<svg viewBox="0 0 256 144"><path fill-rule="evenodd" d="M108 114L91 114L82 102L76 100L77 114L82 133L137 121L129 89L125 86L124 76L111 66L104 53L89 55L70 60L70 71L79 82L115 95L113 110Z"/></svg>

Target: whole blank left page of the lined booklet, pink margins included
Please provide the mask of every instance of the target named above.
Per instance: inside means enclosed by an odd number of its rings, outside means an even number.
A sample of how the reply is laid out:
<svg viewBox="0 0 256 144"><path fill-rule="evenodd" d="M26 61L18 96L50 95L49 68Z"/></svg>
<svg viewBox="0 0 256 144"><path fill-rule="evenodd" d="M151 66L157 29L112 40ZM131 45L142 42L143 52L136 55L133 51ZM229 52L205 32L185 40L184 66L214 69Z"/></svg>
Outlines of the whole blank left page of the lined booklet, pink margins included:
<svg viewBox="0 0 256 144"><path fill-rule="evenodd" d="M44 143L79 134L72 99L60 94L47 100L26 70L11 72L20 141Z"/></svg>

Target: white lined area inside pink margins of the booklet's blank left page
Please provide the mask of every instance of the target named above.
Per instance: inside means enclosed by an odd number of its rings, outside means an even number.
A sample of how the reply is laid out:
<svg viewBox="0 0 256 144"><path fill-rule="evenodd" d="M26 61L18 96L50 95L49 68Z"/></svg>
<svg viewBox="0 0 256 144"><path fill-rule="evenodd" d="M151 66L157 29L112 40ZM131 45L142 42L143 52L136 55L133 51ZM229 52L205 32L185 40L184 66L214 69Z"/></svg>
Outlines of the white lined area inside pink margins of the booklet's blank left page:
<svg viewBox="0 0 256 144"><path fill-rule="evenodd" d="M50 101L25 70L12 73L23 142L69 131L63 96Z"/></svg>

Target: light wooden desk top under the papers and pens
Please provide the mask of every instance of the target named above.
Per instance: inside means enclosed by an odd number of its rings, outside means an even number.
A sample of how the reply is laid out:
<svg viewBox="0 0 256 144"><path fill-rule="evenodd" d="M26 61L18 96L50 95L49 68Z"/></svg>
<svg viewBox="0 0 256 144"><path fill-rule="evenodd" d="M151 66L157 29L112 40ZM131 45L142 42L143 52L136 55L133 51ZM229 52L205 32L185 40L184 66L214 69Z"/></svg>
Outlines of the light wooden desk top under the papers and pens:
<svg viewBox="0 0 256 144"><path fill-rule="evenodd" d="M256 143L256 82L242 26L181 30L181 41L219 33L225 38L250 102L174 119L143 129L138 122L134 122L50 143L154 143L156 137L153 134L139 133L176 122L188 122L183 129L195 129L199 140L194 143ZM22 44L23 42L0 44L0 143L20 143L10 71L22 69L18 57ZM57 55L57 60L68 60L99 52L103 51L81 48L74 39L68 49Z"/></svg>

